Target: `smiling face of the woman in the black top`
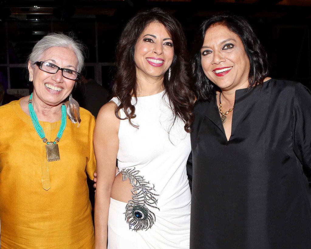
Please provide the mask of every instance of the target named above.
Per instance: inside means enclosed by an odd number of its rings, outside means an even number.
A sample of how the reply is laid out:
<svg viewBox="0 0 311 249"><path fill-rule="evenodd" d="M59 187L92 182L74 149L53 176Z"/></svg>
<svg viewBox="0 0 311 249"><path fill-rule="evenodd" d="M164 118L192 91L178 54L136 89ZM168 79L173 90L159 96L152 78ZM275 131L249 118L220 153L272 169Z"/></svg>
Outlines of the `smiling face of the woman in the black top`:
<svg viewBox="0 0 311 249"><path fill-rule="evenodd" d="M222 91L248 87L248 56L239 35L226 26L215 24L207 29L201 62L207 78Z"/></svg>

